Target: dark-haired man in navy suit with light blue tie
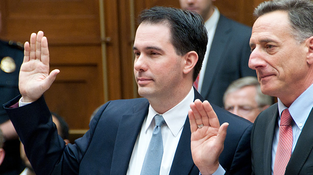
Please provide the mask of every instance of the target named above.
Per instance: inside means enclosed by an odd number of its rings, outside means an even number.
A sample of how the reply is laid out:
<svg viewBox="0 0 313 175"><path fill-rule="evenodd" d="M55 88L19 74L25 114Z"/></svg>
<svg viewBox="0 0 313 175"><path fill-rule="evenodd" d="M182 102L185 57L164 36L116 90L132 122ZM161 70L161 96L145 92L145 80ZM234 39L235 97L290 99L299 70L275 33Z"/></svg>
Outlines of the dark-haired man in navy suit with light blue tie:
<svg viewBox="0 0 313 175"><path fill-rule="evenodd" d="M48 74L47 39L39 31L32 34L31 44L25 43L19 82L22 98L13 99L5 108L36 174L145 174L142 169L149 157L150 139L156 134L154 127L161 128L162 141L157 143L163 143L163 153L152 174L199 174L191 157L187 114L194 99L203 100L192 88L206 50L203 20L192 12L154 7L143 11L138 23L134 75L138 93L145 98L105 103L90 130L73 145L65 146L58 137L42 97L59 73L55 69ZM250 174L252 124L217 106L214 109L221 122L230 123L225 139L229 149L221 153L218 168ZM163 125L153 119L159 115Z"/></svg>

